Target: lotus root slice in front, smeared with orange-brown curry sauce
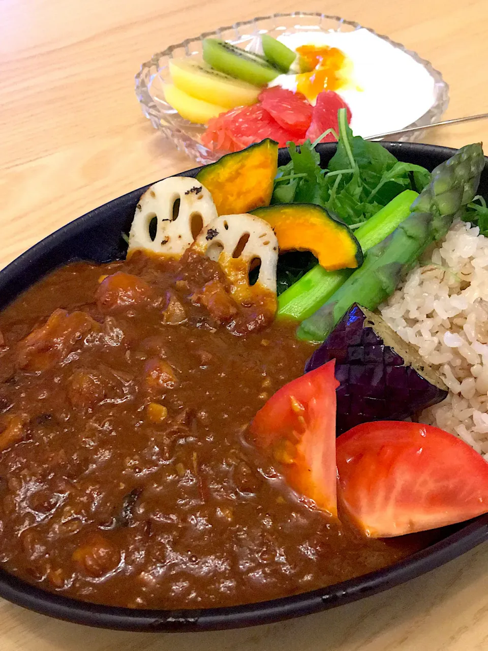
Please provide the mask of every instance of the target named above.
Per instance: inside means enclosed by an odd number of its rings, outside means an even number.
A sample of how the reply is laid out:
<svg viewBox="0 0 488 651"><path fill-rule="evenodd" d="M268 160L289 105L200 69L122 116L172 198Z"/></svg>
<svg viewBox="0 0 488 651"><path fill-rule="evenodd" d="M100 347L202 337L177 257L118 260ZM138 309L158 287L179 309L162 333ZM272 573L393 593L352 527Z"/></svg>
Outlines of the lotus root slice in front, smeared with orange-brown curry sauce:
<svg viewBox="0 0 488 651"><path fill-rule="evenodd" d="M267 290L276 300L278 240L267 222L253 215L221 215L206 225L193 249L219 262L234 299L252 301ZM261 262L258 280L249 284L249 270Z"/></svg>

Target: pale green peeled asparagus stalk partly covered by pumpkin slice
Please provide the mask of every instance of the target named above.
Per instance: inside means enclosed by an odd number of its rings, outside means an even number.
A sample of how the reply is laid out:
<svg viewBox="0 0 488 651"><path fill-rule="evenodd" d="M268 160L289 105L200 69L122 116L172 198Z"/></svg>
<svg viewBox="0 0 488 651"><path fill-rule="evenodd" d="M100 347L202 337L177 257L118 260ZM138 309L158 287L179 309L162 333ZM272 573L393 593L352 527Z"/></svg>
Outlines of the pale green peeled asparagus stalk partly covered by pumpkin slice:
<svg viewBox="0 0 488 651"><path fill-rule="evenodd" d="M404 190L370 217L355 231L355 236L364 253L384 240L410 214L410 206L418 193ZM303 321L311 316L353 273L350 269L325 271L319 264L307 271L278 296L277 316L286 316Z"/></svg>

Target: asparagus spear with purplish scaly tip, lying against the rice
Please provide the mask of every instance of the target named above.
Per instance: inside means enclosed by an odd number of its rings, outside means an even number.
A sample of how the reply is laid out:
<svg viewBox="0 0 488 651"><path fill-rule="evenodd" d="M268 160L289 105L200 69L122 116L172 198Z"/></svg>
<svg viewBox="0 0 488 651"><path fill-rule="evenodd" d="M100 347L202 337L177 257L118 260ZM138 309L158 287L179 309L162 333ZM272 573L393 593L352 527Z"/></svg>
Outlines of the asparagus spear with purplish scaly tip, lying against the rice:
<svg viewBox="0 0 488 651"><path fill-rule="evenodd" d="M370 249L362 267L301 324L299 339L323 341L353 303L374 310L388 298L427 246L444 237L456 213L472 201L484 165L481 145L475 144L436 167L430 184L413 202L411 215Z"/></svg>

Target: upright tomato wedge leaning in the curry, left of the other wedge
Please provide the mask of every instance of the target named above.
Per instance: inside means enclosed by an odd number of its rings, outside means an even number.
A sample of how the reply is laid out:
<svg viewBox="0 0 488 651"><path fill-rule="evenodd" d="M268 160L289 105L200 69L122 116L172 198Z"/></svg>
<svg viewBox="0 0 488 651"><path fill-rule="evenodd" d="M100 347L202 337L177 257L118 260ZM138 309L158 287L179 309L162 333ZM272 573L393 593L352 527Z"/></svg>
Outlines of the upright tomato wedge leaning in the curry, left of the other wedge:
<svg viewBox="0 0 488 651"><path fill-rule="evenodd" d="M250 433L293 490L337 516L334 365L332 359L279 389L254 417Z"/></svg>

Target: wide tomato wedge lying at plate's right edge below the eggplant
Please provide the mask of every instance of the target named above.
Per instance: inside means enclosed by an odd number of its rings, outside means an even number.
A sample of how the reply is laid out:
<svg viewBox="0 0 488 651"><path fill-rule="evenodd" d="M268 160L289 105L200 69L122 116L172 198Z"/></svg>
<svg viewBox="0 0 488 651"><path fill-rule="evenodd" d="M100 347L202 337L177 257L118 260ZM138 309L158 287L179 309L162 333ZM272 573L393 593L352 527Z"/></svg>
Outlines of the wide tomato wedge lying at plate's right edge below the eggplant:
<svg viewBox="0 0 488 651"><path fill-rule="evenodd" d="M373 538L463 522L488 512L488 464L437 427L365 422L337 439L339 497Z"/></svg>

